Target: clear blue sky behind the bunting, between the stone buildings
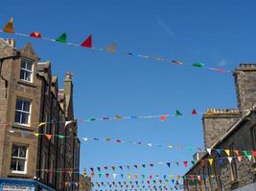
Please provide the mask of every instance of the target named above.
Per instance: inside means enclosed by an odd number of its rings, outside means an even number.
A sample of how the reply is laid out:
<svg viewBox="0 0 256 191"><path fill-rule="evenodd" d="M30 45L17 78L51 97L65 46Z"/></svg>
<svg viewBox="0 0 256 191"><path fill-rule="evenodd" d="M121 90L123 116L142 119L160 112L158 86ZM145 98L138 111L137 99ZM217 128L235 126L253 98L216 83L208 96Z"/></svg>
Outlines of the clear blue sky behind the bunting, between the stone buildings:
<svg viewBox="0 0 256 191"><path fill-rule="evenodd" d="M41 32L57 38L67 32L81 43L89 33L93 45L175 58L187 64L204 62L233 70L254 62L255 1L20 1L1 2L0 24L14 17L16 32ZM2 27L1 27L2 28ZM112 53L15 37L17 47L31 41L42 61L51 60L61 87L65 72L74 76L77 118L190 113L196 108L236 108L232 74L178 67ZM159 144L202 146L201 117L134 119L79 124L79 136L119 138ZM193 152L106 142L84 143L81 168L192 159ZM130 173L182 174L186 168L157 166ZM103 171L104 172L104 171ZM109 171L111 174L112 172ZM116 173L120 174L120 171ZM124 171L128 173L128 171ZM102 179L105 180L105 179Z"/></svg>

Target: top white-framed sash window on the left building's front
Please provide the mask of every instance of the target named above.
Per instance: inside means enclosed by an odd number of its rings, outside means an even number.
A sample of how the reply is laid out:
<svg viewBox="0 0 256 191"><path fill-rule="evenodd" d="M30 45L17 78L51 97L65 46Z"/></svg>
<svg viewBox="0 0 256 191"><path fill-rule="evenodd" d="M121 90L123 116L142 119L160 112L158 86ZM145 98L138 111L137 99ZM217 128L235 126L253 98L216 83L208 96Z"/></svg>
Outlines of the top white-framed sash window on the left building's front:
<svg viewBox="0 0 256 191"><path fill-rule="evenodd" d="M28 59L21 59L20 65L20 79L32 82L33 75L33 61Z"/></svg>

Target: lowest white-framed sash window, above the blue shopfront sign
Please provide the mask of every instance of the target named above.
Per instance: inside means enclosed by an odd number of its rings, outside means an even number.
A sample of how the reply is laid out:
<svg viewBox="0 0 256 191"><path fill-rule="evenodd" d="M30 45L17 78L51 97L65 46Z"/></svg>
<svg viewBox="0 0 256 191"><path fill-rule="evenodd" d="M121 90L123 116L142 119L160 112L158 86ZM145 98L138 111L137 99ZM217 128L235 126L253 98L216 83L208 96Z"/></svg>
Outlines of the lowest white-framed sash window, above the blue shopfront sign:
<svg viewBox="0 0 256 191"><path fill-rule="evenodd" d="M27 172L27 157L28 157L28 146L26 145L12 145L12 161L11 171L12 173L23 173Z"/></svg>

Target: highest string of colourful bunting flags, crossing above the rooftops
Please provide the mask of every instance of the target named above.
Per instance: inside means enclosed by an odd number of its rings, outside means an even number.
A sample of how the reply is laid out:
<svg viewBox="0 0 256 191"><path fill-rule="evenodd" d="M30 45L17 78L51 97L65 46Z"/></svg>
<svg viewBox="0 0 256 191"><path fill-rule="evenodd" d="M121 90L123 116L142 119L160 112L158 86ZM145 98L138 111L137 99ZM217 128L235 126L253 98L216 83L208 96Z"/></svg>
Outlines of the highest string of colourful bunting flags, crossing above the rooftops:
<svg viewBox="0 0 256 191"><path fill-rule="evenodd" d="M30 34L15 32L14 28L13 28L13 18L10 19L10 21L7 23L7 25L0 32L7 32L7 33L11 33L11 34L14 34L17 36L22 36L22 37L32 37L32 38L47 40L47 41L51 41L51 42L55 42L55 43L62 43L62 44L69 45L69 46L87 48L87 49L90 49L93 51L98 51L98 52L118 53L118 54L122 54L122 55L127 55L128 57L139 57L139 58L143 58L146 60L153 60L153 61L158 61L158 62L168 62L168 63L172 63L172 64L175 64L178 66L192 66L192 67L203 68L206 70L215 71L215 72L219 72L219 73L231 73L231 71L228 71L225 69L206 67L206 64L201 63L201 62L197 62L197 63L188 65L188 64L184 64L183 61L165 58L163 56L151 56L148 54L117 51L117 42L112 43L111 45L107 46L106 48L96 48L96 47L92 46L92 34L89 34L89 36L86 37L86 39L81 44L77 44L77 43L71 43L71 42L67 41L67 33L66 32L63 32L56 39L44 37L40 32L31 32Z"/></svg>

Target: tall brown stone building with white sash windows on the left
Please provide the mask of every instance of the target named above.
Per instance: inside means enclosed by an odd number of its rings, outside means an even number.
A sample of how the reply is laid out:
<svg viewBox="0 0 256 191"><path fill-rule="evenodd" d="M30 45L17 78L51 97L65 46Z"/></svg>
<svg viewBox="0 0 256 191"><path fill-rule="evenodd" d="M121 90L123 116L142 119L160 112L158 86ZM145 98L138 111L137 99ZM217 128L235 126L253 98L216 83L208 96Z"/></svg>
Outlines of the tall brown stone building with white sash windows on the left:
<svg viewBox="0 0 256 191"><path fill-rule="evenodd" d="M79 182L72 74L59 89L30 43L17 51L14 40L0 39L0 60L0 188L78 190L65 184Z"/></svg>

